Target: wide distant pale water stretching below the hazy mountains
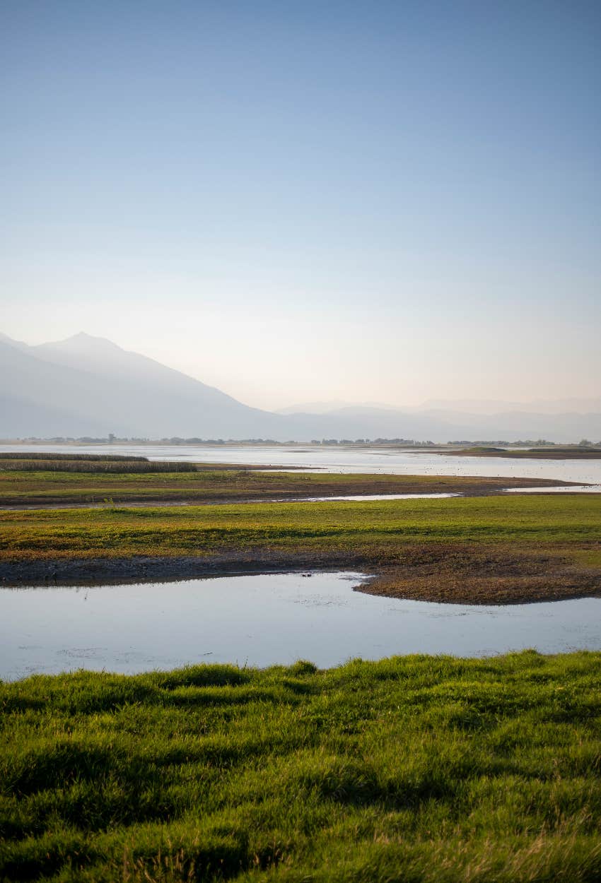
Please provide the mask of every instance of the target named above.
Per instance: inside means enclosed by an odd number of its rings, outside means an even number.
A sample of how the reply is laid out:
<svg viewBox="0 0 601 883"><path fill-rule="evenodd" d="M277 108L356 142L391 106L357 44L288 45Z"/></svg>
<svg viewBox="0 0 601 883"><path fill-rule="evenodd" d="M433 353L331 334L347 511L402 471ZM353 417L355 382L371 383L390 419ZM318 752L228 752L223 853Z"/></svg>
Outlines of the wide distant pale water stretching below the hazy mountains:
<svg viewBox="0 0 601 883"><path fill-rule="evenodd" d="M0 445L0 451L15 450ZM430 450L224 445L19 445L20 451L51 453L130 454L150 460L194 460L204 463L270 465L274 469L300 466L309 472L369 472L393 475L474 475L505 478L557 479L601 486L598 460L523 460L509 457L451 457ZM601 487L597 488L601 490Z"/></svg>

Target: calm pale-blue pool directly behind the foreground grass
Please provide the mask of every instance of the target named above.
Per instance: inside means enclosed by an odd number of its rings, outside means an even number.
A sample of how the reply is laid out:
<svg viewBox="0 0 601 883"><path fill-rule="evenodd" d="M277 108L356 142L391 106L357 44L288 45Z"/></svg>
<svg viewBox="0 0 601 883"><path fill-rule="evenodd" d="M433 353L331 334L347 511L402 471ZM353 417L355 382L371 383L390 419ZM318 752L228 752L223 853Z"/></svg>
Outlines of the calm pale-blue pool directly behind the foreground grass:
<svg viewBox="0 0 601 883"><path fill-rule="evenodd" d="M0 589L0 677L199 662L320 667L397 653L601 649L601 599L468 607L354 592L360 574Z"/></svg>

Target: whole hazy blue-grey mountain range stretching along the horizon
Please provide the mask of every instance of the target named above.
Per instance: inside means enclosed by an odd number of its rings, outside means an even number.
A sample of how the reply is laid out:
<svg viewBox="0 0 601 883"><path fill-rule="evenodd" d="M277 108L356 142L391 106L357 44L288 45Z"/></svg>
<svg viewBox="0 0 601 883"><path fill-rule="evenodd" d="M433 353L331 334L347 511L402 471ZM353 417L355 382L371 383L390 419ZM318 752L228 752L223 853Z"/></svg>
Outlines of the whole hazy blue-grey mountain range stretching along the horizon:
<svg viewBox="0 0 601 883"><path fill-rule="evenodd" d="M29 346L0 335L0 438L403 438L553 442L601 438L601 397L532 404L324 402L251 408L219 389L84 333Z"/></svg>

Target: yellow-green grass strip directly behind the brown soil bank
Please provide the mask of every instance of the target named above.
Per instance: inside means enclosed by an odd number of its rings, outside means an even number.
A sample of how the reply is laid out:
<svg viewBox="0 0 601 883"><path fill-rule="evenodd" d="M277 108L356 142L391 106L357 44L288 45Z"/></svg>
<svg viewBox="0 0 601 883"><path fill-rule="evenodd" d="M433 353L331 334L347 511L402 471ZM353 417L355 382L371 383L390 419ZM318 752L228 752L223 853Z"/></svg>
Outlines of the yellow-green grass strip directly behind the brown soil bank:
<svg viewBox="0 0 601 883"><path fill-rule="evenodd" d="M424 542L596 545L601 495L4 511L0 530L0 560L9 561L250 548L388 555Z"/></svg>

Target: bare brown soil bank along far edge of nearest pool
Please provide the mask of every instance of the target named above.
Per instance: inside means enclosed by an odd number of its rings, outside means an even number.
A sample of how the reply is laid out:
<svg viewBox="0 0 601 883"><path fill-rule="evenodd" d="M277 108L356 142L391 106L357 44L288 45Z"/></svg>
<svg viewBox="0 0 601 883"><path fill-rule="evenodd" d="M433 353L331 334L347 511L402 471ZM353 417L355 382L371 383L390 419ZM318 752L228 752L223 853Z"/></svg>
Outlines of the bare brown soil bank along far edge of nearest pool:
<svg viewBox="0 0 601 883"><path fill-rule="evenodd" d="M358 570L370 577L356 591L387 598L451 604L523 604L601 595L601 570L570 560L567 551L427 544L400 547L393 560L364 554L232 550L184 557L2 562L0 583L87 585L170 582L196 577L290 571Z"/></svg>

